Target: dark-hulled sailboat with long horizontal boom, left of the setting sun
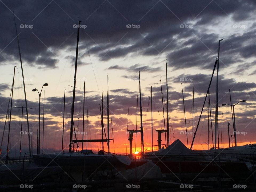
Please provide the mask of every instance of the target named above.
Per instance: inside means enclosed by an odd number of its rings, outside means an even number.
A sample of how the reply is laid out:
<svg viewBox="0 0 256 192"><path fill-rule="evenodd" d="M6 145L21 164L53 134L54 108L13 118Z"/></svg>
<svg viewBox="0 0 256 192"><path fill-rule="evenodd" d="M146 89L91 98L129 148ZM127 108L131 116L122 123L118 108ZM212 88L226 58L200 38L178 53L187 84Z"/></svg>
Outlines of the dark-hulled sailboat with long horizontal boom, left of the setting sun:
<svg viewBox="0 0 256 192"><path fill-rule="evenodd" d="M81 150L80 152L74 152L72 150L72 144L78 142L107 142L109 143L109 113L108 113L108 131L107 139L74 139L73 136L73 126L74 126L74 105L75 105L75 85L76 85L76 74L77 74L77 60L78 60L78 44L79 44L79 29L80 22L78 22L78 31L77 31L77 46L76 46L76 58L75 58L75 72L74 72L74 86L73 86L73 101L71 109L71 124L70 124L70 142L69 142L69 152L60 152L53 154L34 154L34 162L37 165L41 166L65 166L70 167L71 170L76 166L83 167L88 172L93 172L97 170L98 167L101 168L113 168L112 165L117 166L126 166L130 164L130 158L121 155L115 155L110 153L109 150L107 153L105 151L99 151L98 154L94 154L92 150ZM108 102L108 101L107 101ZM109 105L107 103L107 108ZM109 146L109 145L108 145ZM81 170L81 169L80 169Z"/></svg>

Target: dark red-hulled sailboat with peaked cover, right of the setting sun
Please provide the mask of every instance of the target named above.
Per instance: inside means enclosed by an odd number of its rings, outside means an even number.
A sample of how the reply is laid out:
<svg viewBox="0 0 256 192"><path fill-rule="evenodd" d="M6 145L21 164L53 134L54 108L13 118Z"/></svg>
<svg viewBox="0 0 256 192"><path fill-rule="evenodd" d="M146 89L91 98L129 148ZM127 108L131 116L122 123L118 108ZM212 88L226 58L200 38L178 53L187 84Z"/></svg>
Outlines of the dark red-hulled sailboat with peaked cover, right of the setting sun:
<svg viewBox="0 0 256 192"><path fill-rule="evenodd" d="M217 66L217 81L218 60L219 54L218 59L216 59L214 64L214 70ZM213 79L213 74L211 76L210 85ZM210 85L208 86L203 106L205 105ZM216 87L216 92L216 94L218 94L218 86ZM216 106L218 106L218 103L216 103ZM202 111L199 115L199 121L202 115ZM215 118L215 121L217 122L218 119L216 120ZM245 162L245 156L253 155L253 153L256 152L256 144L239 147L235 146L228 149L214 148L210 150L191 150L193 148L193 142L198 129L198 125L199 122L197 124L190 149L177 139L171 143L170 146L167 146L166 149L155 151L153 155L150 153L147 154L146 159L153 161L158 167L161 168L162 173L166 175L181 174L186 176L187 174L190 174L195 176L200 175L200 177L203 175L211 177L214 177L214 175L222 175L222 177L225 177L227 176L226 173L228 173L229 175L237 178L241 177L241 175L246 175L248 177L251 174L252 166L249 162L250 160ZM215 132L216 130L217 125ZM218 169L218 167L220 167L220 169Z"/></svg>

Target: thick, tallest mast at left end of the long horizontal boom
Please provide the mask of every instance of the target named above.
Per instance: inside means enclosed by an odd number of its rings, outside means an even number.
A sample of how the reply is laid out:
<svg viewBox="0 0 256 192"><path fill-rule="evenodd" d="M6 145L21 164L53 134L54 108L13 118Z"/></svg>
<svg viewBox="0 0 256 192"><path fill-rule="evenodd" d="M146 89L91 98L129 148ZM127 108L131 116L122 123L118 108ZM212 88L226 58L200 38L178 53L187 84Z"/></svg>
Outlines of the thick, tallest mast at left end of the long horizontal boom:
<svg viewBox="0 0 256 192"><path fill-rule="evenodd" d="M78 22L78 28L77 28L77 48L76 48L76 53L75 53L75 75L74 75L73 100L72 100L72 110L71 110L69 153L71 153L71 142L72 142L73 123L74 123L75 83L76 83L76 78L77 78L77 57L78 57L78 43L79 43L80 22L81 21Z"/></svg>

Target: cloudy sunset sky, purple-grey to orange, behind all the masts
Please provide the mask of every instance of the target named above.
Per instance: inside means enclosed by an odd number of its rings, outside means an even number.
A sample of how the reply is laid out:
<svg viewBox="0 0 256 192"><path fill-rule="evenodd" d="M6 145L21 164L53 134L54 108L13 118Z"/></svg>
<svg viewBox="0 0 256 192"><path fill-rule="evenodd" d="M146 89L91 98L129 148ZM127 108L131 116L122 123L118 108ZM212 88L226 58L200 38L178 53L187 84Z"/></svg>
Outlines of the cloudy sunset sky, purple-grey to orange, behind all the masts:
<svg viewBox="0 0 256 192"><path fill-rule="evenodd" d="M82 131L82 92L85 81L85 111L88 110L89 116L88 138L101 138L99 104L101 104L102 92L106 128L107 75L109 75L110 117L113 121L114 135L114 143L111 142L110 147L112 152L115 145L115 152L126 153L126 147L129 147L126 145L128 108L128 128L136 129L138 70L140 70L144 141L145 148L149 149L151 147L150 88L153 87L153 129L164 129L159 80L162 81L166 120L165 60L167 59L171 142L180 139L187 145L186 135L181 134L181 131L185 131L181 83L185 98L187 129L192 131L193 85L195 129L217 57L218 41L224 38L221 41L219 62L219 143L222 143L221 146L227 146L227 121L231 123L231 130L233 129L230 107L221 106L222 103L230 103L229 89L233 103L246 100L245 103L235 106L237 130L247 133L238 135L237 142L256 142L255 1L27 0L16 2L2 0L0 5L1 137L14 65L17 68L13 106L25 106L15 17L28 107L36 109L29 109L29 122L30 126L33 126L33 131L38 128L39 98L38 93L31 90L34 88L40 90L43 83L49 83L49 86L43 89L45 90L44 150L46 152L61 150L64 89L66 89L65 149L69 144L70 103L73 91L71 86L74 79L77 39L77 28L74 25L77 25L79 20L82 22L78 51L75 128ZM212 119L215 118L215 86L216 71L210 87ZM13 154L19 153L21 116L20 108L12 109L10 148ZM139 122L137 124L139 128ZM208 102L195 138L197 149L202 149L201 143L207 142L207 128ZM27 130L25 121L23 129ZM157 145L157 133L153 131L153 134L153 145ZM81 137L78 135L78 138ZM192 135L188 137L190 146ZM34 149L36 149L35 138L36 135L33 135ZM162 138L162 143L165 143L163 135ZM22 138L22 152L28 149L27 140L27 137ZM140 146L140 142L140 137L137 137L137 147ZM6 143L7 132L3 137L2 153L6 151ZM135 146L135 135L133 145ZM212 146L211 142L210 145ZM97 151L100 144L89 143L88 148Z"/></svg>

